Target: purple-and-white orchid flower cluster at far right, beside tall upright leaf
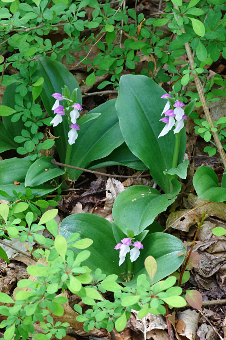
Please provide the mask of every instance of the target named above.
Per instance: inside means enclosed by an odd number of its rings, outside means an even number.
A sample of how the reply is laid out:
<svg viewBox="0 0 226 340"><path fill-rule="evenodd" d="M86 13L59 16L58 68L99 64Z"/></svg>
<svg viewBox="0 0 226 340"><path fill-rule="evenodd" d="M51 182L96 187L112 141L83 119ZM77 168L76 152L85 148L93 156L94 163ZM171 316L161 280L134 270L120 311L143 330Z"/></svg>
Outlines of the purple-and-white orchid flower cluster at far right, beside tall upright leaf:
<svg viewBox="0 0 226 340"><path fill-rule="evenodd" d="M172 98L172 96L165 94L161 98L167 99ZM180 100L176 100L173 104L173 107L175 108L171 109L170 102L167 100L162 112L162 115L165 114L165 117L159 119L160 121L166 123L166 125L159 134L158 138L165 136L173 128L173 126L175 126L175 129L173 130L174 134L181 131L181 129L184 127L184 119L188 119L188 117L185 115L184 109L182 108L183 106L184 104Z"/></svg>

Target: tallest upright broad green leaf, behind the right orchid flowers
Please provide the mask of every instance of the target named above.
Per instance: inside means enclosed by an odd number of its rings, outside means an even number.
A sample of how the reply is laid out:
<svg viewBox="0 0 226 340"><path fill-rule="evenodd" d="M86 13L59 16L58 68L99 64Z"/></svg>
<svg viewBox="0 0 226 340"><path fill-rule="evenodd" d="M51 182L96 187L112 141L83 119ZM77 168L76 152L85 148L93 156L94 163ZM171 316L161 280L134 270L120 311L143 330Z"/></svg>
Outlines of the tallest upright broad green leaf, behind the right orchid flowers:
<svg viewBox="0 0 226 340"><path fill-rule="evenodd" d="M160 97L165 93L162 87L144 75L123 75L119 82L116 112L127 146L150 169L153 182L169 192L170 182L163 171L172 167L175 135L171 130L157 138L164 128L159 119L166 104L166 100ZM183 129L179 164L184 159L185 148L186 134Z"/></svg>

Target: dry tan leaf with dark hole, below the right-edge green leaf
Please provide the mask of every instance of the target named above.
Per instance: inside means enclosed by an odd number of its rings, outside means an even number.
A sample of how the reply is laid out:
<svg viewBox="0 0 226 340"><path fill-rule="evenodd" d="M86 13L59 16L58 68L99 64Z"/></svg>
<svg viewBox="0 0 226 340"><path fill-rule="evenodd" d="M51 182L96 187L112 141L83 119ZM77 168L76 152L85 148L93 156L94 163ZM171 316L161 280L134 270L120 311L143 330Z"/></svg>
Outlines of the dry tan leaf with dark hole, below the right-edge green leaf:
<svg viewBox="0 0 226 340"><path fill-rule="evenodd" d="M225 203L210 202L199 199L194 194L189 194L187 205L193 208L171 212L166 221L166 228L174 228L188 232L190 226L196 224L195 218L201 219L203 212L209 216L215 216L224 221L226 220Z"/></svg>

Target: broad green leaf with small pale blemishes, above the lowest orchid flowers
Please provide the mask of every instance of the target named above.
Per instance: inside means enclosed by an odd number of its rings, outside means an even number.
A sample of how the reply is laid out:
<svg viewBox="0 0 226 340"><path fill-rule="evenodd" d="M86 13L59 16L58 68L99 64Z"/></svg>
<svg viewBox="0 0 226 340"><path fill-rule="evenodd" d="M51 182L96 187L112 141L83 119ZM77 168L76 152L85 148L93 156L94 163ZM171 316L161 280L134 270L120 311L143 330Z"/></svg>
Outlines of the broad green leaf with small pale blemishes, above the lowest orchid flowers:
<svg viewBox="0 0 226 340"><path fill-rule="evenodd" d="M134 235L139 235L175 201L174 196L180 192L181 184L177 180L172 182L174 190L169 194L161 195L158 190L144 185L133 185L120 192L114 202L112 215L124 234L130 227Z"/></svg>

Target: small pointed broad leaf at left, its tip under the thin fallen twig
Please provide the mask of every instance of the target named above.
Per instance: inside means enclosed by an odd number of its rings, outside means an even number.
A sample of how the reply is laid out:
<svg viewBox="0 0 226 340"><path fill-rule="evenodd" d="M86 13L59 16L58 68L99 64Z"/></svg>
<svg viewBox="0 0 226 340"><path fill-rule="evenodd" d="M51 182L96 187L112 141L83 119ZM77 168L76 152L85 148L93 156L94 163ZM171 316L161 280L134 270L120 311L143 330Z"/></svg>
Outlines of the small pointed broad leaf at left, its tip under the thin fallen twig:
<svg viewBox="0 0 226 340"><path fill-rule="evenodd" d="M28 169L24 185L35 187L65 173L51 162L52 157L37 159Z"/></svg>

